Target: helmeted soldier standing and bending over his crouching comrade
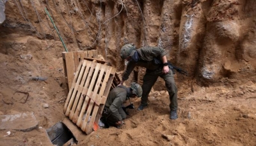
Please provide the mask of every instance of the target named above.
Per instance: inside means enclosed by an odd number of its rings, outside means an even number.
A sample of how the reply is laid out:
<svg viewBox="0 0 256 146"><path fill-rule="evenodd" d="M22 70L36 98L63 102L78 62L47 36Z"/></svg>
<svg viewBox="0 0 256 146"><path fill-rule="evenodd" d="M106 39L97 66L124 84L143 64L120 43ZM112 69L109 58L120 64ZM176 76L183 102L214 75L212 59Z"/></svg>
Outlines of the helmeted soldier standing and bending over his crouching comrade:
<svg viewBox="0 0 256 146"><path fill-rule="evenodd" d="M165 86L170 96L170 119L177 119L177 87L173 78L173 71L168 66L170 63L167 62L165 50L161 47L142 47L136 49L134 44L126 44L121 48L120 55L122 59L129 61L120 85L129 78L135 66L147 68L146 74L143 77L143 94L138 110L143 110L148 105L148 94L157 78L161 77L165 81Z"/></svg>

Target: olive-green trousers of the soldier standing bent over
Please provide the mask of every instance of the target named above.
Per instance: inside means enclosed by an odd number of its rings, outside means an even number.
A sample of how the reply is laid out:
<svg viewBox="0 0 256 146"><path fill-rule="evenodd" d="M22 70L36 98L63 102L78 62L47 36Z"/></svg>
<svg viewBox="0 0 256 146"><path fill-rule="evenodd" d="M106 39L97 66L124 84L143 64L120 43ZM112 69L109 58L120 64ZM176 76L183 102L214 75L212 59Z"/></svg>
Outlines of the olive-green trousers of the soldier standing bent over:
<svg viewBox="0 0 256 146"><path fill-rule="evenodd" d="M158 69L156 71L147 71L143 77L143 85L142 90L143 94L141 97L141 105L147 105L148 102L148 94L152 89L153 85L156 83L157 78L163 78L165 82L165 87L170 96L170 110L177 110L178 101L177 101L177 87L175 85L175 80L173 78L172 69L170 69L169 73L164 74L162 69Z"/></svg>

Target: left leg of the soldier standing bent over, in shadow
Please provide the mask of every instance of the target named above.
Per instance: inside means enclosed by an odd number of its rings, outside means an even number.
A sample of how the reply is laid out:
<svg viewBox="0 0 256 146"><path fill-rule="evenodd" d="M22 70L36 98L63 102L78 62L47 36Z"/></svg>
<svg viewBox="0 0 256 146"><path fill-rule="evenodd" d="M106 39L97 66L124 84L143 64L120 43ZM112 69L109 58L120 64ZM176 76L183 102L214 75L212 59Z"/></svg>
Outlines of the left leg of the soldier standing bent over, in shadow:
<svg viewBox="0 0 256 146"><path fill-rule="evenodd" d="M147 73L146 73L146 75L144 75L143 85L142 85L143 92L142 92L142 97L141 97L141 105L142 106L147 106L148 94L149 94L150 90L152 89L153 85L155 84L157 78L158 78L157 75L148 75ZM138 109L138 110L140 110L140 109Z"/></svg>

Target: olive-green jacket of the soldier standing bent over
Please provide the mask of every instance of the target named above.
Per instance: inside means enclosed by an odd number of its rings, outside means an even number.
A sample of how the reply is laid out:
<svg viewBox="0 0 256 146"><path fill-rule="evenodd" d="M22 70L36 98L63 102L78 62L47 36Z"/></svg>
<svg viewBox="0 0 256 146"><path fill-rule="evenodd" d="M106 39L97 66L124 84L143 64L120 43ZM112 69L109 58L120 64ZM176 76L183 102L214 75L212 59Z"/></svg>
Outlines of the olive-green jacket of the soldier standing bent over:
<svg viewBox="0 0 256 146"><path fill-rule="evenodd" d="M152 71L158 69L161 64L157 64L154 59L156 58L157 60L162 61L161 57L166 55L165 50L161 47L142 47L137 49L137 52L140 57L140 61L129 61L127 63L127 68L124 71L122 80L127 80L129 78L129 75L135 66L141 66Z"/></svg>

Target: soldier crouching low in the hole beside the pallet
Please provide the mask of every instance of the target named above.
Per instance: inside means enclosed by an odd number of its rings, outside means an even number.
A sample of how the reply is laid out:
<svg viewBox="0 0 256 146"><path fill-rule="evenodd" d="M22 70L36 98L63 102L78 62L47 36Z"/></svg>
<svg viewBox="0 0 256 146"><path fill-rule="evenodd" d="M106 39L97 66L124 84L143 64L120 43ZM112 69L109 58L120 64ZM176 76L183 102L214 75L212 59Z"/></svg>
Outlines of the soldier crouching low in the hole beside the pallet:
<svg viewBox="0 0 256 146"><path fill-rule="evenodd" d="M142 88L135 82L131 83L131 87L118 85L112 89L108 94L108 98L102 112L101 120L104 122L105 127L109 128L109 126L115 126L116 128L120 128L120 126L124 124L123 120L127 117L124 109L122 108L124 101L136 96L140 98L141 95Z"/></svg>

